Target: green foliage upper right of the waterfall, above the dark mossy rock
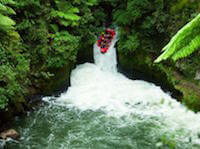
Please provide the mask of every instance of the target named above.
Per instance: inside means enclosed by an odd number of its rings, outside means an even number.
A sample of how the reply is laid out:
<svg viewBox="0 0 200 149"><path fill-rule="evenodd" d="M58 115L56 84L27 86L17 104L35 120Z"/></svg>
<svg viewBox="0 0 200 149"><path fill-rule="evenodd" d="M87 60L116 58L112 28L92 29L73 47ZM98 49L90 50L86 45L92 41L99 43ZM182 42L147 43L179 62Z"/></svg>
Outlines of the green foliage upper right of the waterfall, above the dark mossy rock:
<svg viewBox="0 0 200 149"><path fill-rule="evenodd" d="M156 55L166 39L196 15L200 4L185 0L107 1L114 7L113 21L119 27L119 52L142 50Z"/></svg>

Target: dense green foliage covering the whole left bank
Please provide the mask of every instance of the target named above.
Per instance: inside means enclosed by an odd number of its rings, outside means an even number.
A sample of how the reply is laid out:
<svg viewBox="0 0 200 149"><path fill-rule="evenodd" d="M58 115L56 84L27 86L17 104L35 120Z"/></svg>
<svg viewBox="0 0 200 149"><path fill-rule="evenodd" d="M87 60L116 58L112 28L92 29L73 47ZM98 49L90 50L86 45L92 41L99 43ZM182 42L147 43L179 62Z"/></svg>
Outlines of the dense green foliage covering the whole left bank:
<svg viewBox="0 0 200 149"><path fill-rule="evenodd" d="M97 4L97 0L0 0L0 109L19 102L29 88L43 90L40 83L57 73L52 70L74 64L78 49L94 43L105 22L102 8L93 9ZM9 17L13 14L14 20Z"/></svg>

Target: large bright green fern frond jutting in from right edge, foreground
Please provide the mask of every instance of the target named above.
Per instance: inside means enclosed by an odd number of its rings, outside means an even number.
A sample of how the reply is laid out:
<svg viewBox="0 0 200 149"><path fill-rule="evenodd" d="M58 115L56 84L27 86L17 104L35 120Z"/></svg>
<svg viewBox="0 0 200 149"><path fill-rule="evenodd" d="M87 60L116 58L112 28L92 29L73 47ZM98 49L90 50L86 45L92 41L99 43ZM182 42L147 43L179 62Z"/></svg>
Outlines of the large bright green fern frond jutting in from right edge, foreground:
<svg viewBox="0 0 200 149"><path fill-rule="evenodd" d="M174 61L184 58L200 47L200 14L180 29L170 42L162 49L164 51L155 62L172 58Z"/></svg>

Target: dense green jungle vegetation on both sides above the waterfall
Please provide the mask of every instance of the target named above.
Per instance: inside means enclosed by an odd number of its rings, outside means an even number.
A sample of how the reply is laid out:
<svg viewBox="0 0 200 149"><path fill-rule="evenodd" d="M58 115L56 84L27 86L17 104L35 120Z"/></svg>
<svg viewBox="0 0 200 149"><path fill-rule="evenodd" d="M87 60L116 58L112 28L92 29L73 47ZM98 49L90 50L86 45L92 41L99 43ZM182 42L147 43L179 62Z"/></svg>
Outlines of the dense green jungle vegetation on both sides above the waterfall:
<svg viewBox="0 0 200 149"><path fill-rule="evenodd" d="M199 2L188 0L0 0L0 109L75 63L105 26L118 26L119 52L159 56L198 13Z"/></svg>

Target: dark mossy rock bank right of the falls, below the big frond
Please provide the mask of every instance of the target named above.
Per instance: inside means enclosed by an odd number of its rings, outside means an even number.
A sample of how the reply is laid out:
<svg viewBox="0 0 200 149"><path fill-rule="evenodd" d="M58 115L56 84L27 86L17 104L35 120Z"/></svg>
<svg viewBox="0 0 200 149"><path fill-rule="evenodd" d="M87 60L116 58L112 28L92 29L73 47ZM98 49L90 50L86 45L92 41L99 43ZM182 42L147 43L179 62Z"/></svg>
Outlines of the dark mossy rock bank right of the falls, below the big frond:
<svg viewBox="0 0 200 149"><path fill-rule="evenodd" d="M172 92L174 98L182 101L189 109L200 111L200 86L194 78L181 74L173 64L154 64L153 56L143 51L133 52L128 55L120 52L118 55L119 66L123 71L145 74L146 81L151 81L163 86ZM144 79L145 80L145 79Z"/></svg>

